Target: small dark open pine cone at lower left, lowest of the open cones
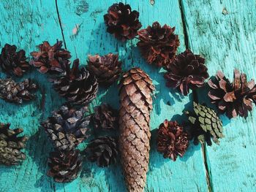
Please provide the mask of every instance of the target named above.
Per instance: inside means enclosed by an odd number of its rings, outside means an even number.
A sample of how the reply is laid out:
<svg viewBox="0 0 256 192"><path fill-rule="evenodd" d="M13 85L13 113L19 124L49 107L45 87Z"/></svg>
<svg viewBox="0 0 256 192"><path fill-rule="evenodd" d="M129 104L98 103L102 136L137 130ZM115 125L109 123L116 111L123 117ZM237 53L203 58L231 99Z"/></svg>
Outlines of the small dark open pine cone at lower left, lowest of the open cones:
<svg viewBox="0 0 256 192"><path fill-rule="evenodd" d="M82 169L79 150L55 150L50 153L48 161L50 167L48 176L53 177L59 183L68 183L75 180Z"/></svg>

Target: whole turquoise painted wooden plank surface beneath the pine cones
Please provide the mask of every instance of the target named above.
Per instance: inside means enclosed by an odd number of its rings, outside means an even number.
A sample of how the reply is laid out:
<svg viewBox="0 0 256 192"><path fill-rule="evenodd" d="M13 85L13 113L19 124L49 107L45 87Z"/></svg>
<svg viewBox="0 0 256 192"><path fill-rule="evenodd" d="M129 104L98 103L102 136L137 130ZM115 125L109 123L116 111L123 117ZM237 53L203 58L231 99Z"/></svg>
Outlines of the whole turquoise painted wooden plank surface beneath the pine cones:
<svg viewBox="0 0 256 192"><path fill-rule="evenodd" d="M151 129L165 118L181 121L182 111L192 100L206 100L201 96L205 89L185 97L168 91L162 70L148 66L140 58L136 39L118 42L107 34L103 15L114 2L118 1L2 0L0 47L13 43L29 54L44 40L54 43L61 39L72 53L72 60L80 58L82 64L86 64L89 54L119 53L124 70L140 66L157 87ZM221 69L232 78L233 68L237 67L249 78L256 78L252 70L256 62L255 0L155 0L154 5L149 0L123 2L140 12L143 28L156 20L176 26L181 40L178 51L189 47L203 55L210 75ZM46 176L47 156L52 146L39 123L64 100L51 90L45 76L33 72L26 77L37 80L41 86L36 101L22 106L0 101L0 121L11 122L12 128L22 127L24 134L30 136L26 161L21 166L0 166L0 191L125 191L120 164L100 169L84 162L80 177L67 184L54 183ZM113 85L108 90L101 89L91 109L102 102L118 108L117 88ZM252 112L246 120L229 121L223 117L226 137L220 146L190 145L184 158L176 162L157 153L153 138L145 191L256 191L255 114Z"/></svg>

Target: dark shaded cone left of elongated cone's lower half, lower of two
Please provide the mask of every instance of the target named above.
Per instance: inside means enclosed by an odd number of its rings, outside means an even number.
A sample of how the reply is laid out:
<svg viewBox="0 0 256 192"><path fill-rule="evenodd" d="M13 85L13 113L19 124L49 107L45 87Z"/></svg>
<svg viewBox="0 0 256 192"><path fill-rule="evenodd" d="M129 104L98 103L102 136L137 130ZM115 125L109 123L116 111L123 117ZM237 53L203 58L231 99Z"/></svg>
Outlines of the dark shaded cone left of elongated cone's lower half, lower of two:
<svg viewBox="0 0 256 192"><path fill-rule="evenodd" d="M85 153L89 161L97 162L100 167L115 164L118 156L117 139L108 136L93 139L87 145Z"/></svg>

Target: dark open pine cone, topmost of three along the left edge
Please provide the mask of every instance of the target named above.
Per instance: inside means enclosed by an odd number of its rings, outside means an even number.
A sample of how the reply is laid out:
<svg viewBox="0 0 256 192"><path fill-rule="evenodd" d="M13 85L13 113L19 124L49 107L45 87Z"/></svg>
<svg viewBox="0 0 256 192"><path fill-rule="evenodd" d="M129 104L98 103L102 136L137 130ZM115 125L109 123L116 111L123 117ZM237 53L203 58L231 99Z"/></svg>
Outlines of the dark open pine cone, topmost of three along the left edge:
<svg viewBox="0 0 256 192"><path fill-rule="evenodd" d="M15 74L18 77L30 69L29 62L26 61L26 53L24 50L16 52L15 45L5 44L1 49L0 66L7 74Z"/></svg>

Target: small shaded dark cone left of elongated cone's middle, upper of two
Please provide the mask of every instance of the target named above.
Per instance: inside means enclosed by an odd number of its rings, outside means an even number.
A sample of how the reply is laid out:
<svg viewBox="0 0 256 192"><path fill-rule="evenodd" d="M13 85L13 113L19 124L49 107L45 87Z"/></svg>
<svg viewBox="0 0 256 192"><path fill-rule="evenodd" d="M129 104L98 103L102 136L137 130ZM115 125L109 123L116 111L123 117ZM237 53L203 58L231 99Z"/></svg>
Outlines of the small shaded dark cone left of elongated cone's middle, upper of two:
<svg viewBox="0 0 256 192"><path fill-rule="evenodd" d="M95 129L116 130L118 128L118 112L109 104L94 107L94 115L91 120Z"/></svg>

